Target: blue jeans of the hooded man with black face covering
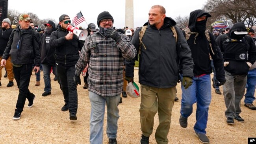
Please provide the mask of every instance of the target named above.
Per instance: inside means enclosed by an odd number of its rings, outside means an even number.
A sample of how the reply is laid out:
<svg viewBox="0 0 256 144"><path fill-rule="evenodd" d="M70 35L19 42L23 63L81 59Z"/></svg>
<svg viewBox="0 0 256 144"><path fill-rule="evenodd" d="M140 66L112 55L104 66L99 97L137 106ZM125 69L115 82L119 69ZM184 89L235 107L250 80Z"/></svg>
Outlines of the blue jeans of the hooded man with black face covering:
<svg viewBox="0 0 256 144"><path fill-rule="evenodd" d="M182 75L181 75L182 78ZM206 134L208 110L211 103L211 76L210 74L194 77L193 83L188 89L182 89L180 114L187 118L193 112L193 104L197 103L196 120L194 130L196 133Z"/></svg>

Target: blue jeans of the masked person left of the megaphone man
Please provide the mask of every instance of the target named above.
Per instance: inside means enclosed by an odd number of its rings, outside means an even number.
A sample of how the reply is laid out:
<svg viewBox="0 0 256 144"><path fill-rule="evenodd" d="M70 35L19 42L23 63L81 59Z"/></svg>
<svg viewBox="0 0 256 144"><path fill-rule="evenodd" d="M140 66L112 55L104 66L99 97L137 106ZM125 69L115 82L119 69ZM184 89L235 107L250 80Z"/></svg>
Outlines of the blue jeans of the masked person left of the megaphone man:
<svg viewBox="0 0 256 144"><path fill-rule="evenodd" d="M44 82L45 82L45 92L51 92L52 87L51 87L51 78L50 78L50 74L51 74L51 69L54 73L55 76L58 76L57 74L57 69L56 69L56 65L51 65L49 63L42 63L41 64L43 67L43 72L44 72Z"/></svg>

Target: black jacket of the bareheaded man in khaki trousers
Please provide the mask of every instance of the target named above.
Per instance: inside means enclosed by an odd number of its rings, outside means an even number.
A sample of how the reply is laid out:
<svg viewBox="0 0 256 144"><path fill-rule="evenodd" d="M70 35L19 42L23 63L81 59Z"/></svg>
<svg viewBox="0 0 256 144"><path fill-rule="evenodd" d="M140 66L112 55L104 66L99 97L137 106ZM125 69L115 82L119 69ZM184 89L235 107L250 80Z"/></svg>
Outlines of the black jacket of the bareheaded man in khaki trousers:
<svg viewBox="0 0 256 144"><path fill-rule="evenodd" d="M178 42L174 37L170 26L175 26L176 22L169 17L165 17L163 26L158 30L155 26L147 23L147 30L142 42L146 50L141 46L139 55L139 83L157 88L170 88L177 85L179 70L178 57L183 65L184 76L193 78L193 59L191 51L187 45L182 31L175 27L178 33ZM139 49L139 31L135 31L132 44ZM134 77L134 63L126 60L125 76Z"/></svg>

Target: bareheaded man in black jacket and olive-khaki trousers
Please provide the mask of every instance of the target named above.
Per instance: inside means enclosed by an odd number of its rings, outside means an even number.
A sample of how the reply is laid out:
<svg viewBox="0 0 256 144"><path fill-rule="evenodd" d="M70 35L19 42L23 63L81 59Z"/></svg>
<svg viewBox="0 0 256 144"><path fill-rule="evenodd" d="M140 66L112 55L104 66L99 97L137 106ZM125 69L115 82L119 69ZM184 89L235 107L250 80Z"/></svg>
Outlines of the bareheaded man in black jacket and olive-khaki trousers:
<svg viewBox="0 0 256 144"><path fill-rule="evenodd" d="M171 112L174 105L176 85L178 81L178 57L183 65L183 81L186 89L193 78L193 60L182 31L176 22L165 17L165 8L160 5L152 6L148 13L148 22L143 36L141 54L139 56L139 83L141 84L141 144L148 144L152 134L154 116L158 112L159 125L156 129L156 142L167 144ZM175 26L175 27L174 27ZM175 28L177 36L174 35ZM139 49L139 32L135 31L132 44ZM177 43L176 43L177 37ZM125 76L128 82L133 81L135 59L125 61ZM185 84L186 83L186 84Z"/></svg>

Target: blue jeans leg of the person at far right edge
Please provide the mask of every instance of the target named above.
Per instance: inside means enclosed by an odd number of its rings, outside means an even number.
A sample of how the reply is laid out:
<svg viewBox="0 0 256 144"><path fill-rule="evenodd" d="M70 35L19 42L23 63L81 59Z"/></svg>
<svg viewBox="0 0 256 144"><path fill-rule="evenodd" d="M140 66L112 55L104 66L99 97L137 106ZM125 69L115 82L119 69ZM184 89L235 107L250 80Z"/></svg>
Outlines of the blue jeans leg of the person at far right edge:
<svg viewBox="0 0 256 144"><path fill-rule="evenodd" d="M256 68L249 70L246 83L245 103L253 103L255 100Z"/></svg>

